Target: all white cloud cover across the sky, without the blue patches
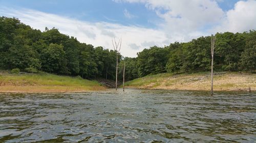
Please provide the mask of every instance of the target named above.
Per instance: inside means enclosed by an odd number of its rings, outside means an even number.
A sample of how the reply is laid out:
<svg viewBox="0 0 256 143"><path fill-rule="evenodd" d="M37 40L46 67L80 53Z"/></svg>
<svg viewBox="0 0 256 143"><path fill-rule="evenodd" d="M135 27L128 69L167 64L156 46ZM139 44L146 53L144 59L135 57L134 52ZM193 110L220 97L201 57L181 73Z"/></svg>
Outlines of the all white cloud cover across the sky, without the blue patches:
<svg viewBox="0 0 256 143"><path fill-rule="evenodd" d="M70 17L35 10L1 8L0 14L17 17L34 28L45 30L56 27L63 34L77 37L80 42L113 49L113 37L122 37L121 53L135 57L136 53L150 46L164 46L170 42L187 42L193 38L216 32L244 32L256 29L256 1L239 1L233 9L223 11L222 0L113 0L117 3L142 3L162 18L155 23L157 29L124 26L109 22L88 22ZM134 15L126 9L127 18ZM148 19L151 20L151 19ZM115 20L110 20L116 22Z"/></svg>

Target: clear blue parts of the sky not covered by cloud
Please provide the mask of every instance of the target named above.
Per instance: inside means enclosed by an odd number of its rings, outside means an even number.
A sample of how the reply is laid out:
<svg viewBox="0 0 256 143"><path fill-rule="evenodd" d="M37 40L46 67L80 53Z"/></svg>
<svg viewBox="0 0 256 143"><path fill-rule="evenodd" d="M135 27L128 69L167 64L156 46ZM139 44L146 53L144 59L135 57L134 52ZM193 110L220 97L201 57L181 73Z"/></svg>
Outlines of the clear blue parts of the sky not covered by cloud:
<svg viewBox="0 0 256 143"><path fill-rule="evenodd" d="M232 9L238 0L217 2L220 8L227 11ZM155 11L147 9L143 3L116 3L111 0L1 0L0 4L8 8L33 9L91 22L106 21L155 28L155 22L161 21ZM134 17L126 17L124 11L129 12Z"/></svg>

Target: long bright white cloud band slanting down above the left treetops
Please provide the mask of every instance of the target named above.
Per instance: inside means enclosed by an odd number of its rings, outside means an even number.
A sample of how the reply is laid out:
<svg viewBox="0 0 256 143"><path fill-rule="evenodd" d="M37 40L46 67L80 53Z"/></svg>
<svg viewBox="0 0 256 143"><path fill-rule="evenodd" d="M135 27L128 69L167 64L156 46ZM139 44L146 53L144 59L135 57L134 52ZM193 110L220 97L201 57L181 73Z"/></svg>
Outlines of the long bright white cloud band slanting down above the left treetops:
<svg viewBox="0 0 256 143"><path fill-rule="evenodd" d="M80 42L108 49L113 49L111 42L113 37L122 37L120 52L122 55L129 57L136 57L136 53L145 48L141 44L143 41L158 41L156 44L159 46L169 44L165 43L168 39L164 32L151 28L124 26L108 22L91 23L28 9L2 8L0 15L17 17L23 23L41 31L44 31L46 26L48 28L55 27L59 29L60 33L74 36ZM135 48L134 45L137 47Z"/></svg>

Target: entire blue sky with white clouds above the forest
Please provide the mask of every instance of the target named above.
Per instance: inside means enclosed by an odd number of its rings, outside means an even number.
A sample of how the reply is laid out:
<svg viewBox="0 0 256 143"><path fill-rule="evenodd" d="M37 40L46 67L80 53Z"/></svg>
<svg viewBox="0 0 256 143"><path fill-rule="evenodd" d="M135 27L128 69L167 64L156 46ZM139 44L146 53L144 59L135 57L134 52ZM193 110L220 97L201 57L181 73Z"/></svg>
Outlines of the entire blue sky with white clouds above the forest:
<svg viewBox="0 0 256 143"><path fill-rule="evenodd" d="M0 16L41 31L58 28L78 41L136 57L152 46L256 30L256 0L0 0Z"/></svg>

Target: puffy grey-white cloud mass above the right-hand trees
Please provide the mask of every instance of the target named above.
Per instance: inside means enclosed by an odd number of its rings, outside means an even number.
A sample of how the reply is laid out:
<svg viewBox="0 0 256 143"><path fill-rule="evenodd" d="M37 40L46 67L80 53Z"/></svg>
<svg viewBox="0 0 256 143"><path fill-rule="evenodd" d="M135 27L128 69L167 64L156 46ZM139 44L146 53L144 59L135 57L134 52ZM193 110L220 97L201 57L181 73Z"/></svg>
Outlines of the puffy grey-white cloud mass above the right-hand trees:
<svg viewBox="0 0 256 143"><path fill-rule="evenodd" d="M256 1L239 1L225 12L217 2L223 0L113 0L142 3L164 20L158 24L170 42L189 41L217 32L244 32L256 29Z"/></svg>

